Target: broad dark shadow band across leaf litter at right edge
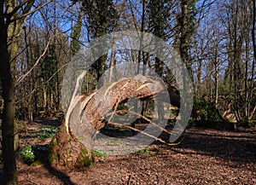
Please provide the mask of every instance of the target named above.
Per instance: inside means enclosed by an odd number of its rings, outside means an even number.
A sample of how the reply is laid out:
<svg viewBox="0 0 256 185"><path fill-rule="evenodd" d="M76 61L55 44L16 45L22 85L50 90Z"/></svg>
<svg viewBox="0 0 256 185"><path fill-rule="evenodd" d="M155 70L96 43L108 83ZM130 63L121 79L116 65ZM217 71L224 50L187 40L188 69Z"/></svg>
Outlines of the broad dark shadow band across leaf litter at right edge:
<svg viewBox="0 0 256 185"><path fill-rule="evenodd" d="M256 130L190 128L183 142L172 147L182 154L200 154L236 162L256 162Z"/></svg>

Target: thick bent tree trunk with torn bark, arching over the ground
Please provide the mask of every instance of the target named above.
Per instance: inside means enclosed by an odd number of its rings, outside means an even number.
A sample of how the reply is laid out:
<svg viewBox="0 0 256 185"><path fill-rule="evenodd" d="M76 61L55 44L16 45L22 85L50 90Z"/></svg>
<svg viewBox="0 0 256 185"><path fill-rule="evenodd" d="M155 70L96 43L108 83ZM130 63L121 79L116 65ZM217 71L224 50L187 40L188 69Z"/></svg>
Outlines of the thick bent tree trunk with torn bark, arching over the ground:
<svg viewBox="0 0 256 185"><path fill-rule="evenodd" d="M67 111L61 130L50 142L49 162L69 168L90 165L94 162L91 153L93 138L110 121L106 115L113 115L119 103L132 97L140 100L160 99L165 90L166 86L161 80L137 75L105 84L88 95L79 95L70 103L70 111ZM179 96L169 95L171 101L179 101Z"/></svg>

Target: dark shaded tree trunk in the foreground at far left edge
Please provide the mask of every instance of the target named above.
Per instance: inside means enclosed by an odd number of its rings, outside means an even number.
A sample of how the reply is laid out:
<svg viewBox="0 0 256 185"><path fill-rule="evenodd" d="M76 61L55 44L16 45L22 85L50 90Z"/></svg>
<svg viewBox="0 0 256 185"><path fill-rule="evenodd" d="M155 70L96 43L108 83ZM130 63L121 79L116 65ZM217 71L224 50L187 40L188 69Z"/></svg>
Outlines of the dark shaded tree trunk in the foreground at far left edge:
<svg viewBox="0 0 256 185"><path fill-rule="evenodd" d="M3 146L3 184L17 184L15 163L15 84L9 63L7 29L9 20L3 17L3 1L0 4L0 78L2 84L2 146Z"/></svg>

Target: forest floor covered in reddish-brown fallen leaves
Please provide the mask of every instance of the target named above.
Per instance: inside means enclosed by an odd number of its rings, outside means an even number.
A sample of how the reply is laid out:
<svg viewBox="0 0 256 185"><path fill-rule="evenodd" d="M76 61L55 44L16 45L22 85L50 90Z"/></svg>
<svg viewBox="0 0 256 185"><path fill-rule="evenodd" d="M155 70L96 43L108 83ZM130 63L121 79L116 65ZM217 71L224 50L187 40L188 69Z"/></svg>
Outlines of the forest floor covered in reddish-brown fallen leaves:
<svg viewBox="0 0 256 185"><path fill-rule="evenodd" d="M20 131L20 147L44 145L39 139L45 125L40 119ZM109 145L121 143L106 142ZM122 146L121 146L122 147ZM125 147L125 146L124 146ZM2 165L0 165L2 167ZM26 165L17 159L20 185L33 184L256 184L256 130L213 130L191 127L176 146L155 142L139 153L96 157L96 165L67 170L49 165ZM0 182L3 172L0 170Z"/></svg>

